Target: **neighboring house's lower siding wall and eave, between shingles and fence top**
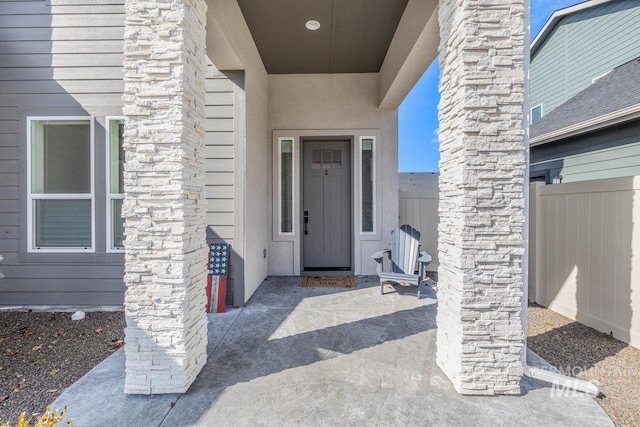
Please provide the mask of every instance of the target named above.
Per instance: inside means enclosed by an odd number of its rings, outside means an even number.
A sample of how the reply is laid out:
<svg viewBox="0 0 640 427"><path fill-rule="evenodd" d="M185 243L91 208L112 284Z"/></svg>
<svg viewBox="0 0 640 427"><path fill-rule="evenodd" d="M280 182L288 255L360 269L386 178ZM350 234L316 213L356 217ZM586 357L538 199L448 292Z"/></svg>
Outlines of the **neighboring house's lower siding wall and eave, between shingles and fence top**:
<svg viewBox="0 0 640 427"><path fill-rule="evenodd" d="M640 175L640 120L531 147L531 171L547 170L556 183Z"/></svg>

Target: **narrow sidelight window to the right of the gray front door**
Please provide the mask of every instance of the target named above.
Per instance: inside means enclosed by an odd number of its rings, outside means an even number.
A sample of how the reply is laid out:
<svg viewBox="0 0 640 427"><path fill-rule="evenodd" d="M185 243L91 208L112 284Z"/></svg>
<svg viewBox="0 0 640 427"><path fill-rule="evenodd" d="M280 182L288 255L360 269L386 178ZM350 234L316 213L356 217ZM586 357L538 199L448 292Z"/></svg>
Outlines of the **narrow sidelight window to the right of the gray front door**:
<svg viewBox="0 0 640 427"><path fill-rule="evenodd" d="M375 232L375 140L360 139L361 231Z"/></svg>

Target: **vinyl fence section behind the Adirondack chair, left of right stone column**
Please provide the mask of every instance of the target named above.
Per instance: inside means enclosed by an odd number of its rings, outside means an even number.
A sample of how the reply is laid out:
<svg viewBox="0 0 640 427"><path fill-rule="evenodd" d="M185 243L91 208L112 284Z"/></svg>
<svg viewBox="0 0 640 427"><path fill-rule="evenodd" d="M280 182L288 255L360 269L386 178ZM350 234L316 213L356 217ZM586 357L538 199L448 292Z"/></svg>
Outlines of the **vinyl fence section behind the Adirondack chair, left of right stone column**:
<svg viewBox="0 0 640 427"><path fill-rule="evenodd" d="M428 271L438 265L438 190L400 191L400 225L409 224L420 231L421 250L433 257Z"/></svg>

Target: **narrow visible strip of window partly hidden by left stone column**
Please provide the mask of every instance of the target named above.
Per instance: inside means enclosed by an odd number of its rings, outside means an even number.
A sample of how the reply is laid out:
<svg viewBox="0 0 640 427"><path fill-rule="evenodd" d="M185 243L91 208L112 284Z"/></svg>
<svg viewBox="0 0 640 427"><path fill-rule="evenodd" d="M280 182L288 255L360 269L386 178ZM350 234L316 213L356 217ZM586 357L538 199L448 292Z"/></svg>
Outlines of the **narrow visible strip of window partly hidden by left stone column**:
<svg viewBox="0 0 640 427"><path fill-rule="evenodd" d="M124 119L107 118L107 251L124 250Z"/></svg>

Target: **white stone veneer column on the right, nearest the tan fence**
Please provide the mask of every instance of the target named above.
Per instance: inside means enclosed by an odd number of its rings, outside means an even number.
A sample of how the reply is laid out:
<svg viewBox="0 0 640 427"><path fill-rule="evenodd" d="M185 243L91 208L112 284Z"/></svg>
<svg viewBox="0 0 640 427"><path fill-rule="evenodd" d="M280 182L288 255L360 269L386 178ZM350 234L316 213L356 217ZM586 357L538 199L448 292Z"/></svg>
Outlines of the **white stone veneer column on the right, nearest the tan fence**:
<svg viewBox="0 0 640 427"><path fill-rule="evenodd" d="M518 394L527 162L524 0L440 0L437 363L462 394Z"/></svg>

